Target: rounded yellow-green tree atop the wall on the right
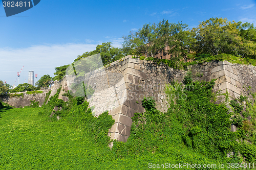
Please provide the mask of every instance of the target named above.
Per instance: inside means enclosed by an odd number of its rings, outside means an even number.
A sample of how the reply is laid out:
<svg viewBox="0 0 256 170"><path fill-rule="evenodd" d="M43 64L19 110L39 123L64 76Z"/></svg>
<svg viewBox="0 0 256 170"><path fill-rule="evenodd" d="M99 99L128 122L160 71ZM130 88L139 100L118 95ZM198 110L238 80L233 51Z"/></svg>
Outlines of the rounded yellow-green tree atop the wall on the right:
<svg viewBox="0 0 256 170"><path fill-rule="evenodd" d="M200 22L194 28L197 53L218 55L221 53L238 54L241 37L236 28L237 23L227 21L227 18L210 18Z"/></svg>

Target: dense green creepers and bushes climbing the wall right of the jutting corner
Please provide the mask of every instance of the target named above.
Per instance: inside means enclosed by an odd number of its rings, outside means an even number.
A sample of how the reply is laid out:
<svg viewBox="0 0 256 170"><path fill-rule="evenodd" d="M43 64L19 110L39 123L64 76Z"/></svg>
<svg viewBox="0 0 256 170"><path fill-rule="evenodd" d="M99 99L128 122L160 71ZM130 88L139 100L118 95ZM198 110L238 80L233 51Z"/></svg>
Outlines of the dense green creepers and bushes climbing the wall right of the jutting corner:
<svg viewBox="0 0 256 170"><path fill-rule="evenodd" d="M166 113L155 108L154 100L142 101L146 111L135 113L132 118L131 136L127 142L115 141L112 150L117 157L127 158L127 152L139 155L161 154L162 157L172 157L173 162L177 163L175 156L179 153L178 150L182 150L190 156L186 158L184 155L179 155L181 162L200 162L191 156L199 153L198 157L204 157L201 163L242 163L243 161L253 163L256 159L256 147L255 129L252 127L255 125L248 125L250 123L238 115L242 112L240 105L233 105L236 101L231 102L236 110L232 113L226 108L226 102L220 105L212 103L211 100L217 95L211 92L215 80L186 83L186 86L191 88L184 88L179 83L166 86L169 103ZM246 97L240 96L240 102L246 100ZM253 110L255 113L256 105L253 104L253 107L254 110L252 106L248 110L250 112ZM237 132L230 131L231 124L237 126ZM248 126L253 132L248 131ZM250 140L246 140L248 138ZM233 155L227 158L231 152Z"/></svg>

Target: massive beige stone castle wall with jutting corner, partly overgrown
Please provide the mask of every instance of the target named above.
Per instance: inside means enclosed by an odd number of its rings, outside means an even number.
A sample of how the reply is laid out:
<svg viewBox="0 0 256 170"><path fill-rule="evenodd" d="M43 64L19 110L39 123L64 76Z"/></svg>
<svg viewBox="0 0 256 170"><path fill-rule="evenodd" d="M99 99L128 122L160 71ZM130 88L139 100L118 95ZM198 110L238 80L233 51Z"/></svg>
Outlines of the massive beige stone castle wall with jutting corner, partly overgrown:
<svg viewBox="0 0 256 170"><path fill-rule="evenodd" d="M189 66L189 70L195 80L217 79L214 90L221 92L227 90L231 98L237 98L240 94L248 95L249 92L246 90L248 86L251 87L252 92L256 92L256 67L250 65L212 61ZM134 59L132 56L111 63L104 68L104 71L103 74L101 72L93 76L86 75L88 84L95 89L93 96L88 100L95 106L93 110L96 112L95 116L98 115L97 112L108 108L109 114L115 120L115 124L109 130L109 136L111 139L124 142L130 136L131 118L134 113L144 111L141 106L144 96L153 96L157 108L167 111L165 85L172 81L183 82L187 73L187 70L173 69L165 64L158 65L156 62ZM51 96L56 93L60 85L62 85L61 89L67 91L70 82L68 77L56 82ZM97 88L99 86L102 88ZM59 99L63 99L61 94Z"/></svg>

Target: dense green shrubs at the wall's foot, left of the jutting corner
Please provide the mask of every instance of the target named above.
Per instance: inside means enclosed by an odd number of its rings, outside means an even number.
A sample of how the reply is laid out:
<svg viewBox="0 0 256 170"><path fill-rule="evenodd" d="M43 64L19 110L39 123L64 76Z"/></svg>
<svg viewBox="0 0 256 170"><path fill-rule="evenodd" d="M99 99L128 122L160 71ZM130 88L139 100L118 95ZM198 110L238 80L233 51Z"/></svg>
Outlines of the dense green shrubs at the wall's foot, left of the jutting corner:
<svg viewBox="0 0 256 170"><path fill-rule="evenodd" d="M83 129L87 134L98 144L108 145L110 137L108 131L114 124L112 116L108 112L104 112L98 117L95 117L92 113L92 108L88 108L89 103L84 100L82 96L80 101L77 101L77 97L74 98L69 92L64 95L69 98L68 102L64 102L58 98L60 88L57 93L50 98L47 105L42 107L42 111L39 115L44 114L47 119L56 121L56 116L62 117L61 120L67 120L75 128ZM52 113L54 106L62 107L61 111L55 112L52 118L49 115Z"/></svg>

